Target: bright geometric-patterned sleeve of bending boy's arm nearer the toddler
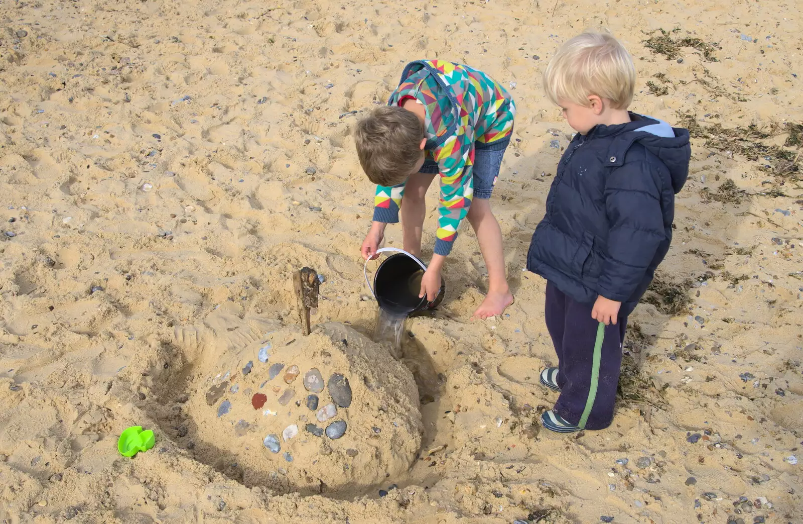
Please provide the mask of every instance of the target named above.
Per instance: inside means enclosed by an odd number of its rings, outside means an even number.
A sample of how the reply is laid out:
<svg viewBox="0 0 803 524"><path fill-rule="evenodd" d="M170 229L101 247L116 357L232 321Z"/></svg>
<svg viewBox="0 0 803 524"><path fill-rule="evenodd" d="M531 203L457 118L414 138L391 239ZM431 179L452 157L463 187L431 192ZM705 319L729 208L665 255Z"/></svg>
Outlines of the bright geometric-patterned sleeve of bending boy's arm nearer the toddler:
<svg viewBox="0 0 803 524"><path fill-rule="evenodd" d="M474 130L458 128L454 137L435 151L434 158L441 172L434 253L446 256L451 252L457 229L466 218L474 196Z"/></svg>

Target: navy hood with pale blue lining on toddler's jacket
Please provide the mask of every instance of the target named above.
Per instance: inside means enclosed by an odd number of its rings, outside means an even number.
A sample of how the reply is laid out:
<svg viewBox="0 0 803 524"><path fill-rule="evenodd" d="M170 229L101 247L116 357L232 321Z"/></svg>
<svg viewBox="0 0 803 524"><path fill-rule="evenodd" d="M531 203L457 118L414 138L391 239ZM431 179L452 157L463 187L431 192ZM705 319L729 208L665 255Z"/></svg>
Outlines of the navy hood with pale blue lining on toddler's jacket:
<svg viewBox="0 0 803 524"><path fill-rule="evenodd" d="M613 165L621 165L630 146L637 142L651 154L658 157L669 170L672 190L675 194L683 189L689 175L691 145L689 132L683 128L673 128L665 121L630 113L630 122L618 125L597 125L589 132L589 137L615 136L609 149Z"/></svg>

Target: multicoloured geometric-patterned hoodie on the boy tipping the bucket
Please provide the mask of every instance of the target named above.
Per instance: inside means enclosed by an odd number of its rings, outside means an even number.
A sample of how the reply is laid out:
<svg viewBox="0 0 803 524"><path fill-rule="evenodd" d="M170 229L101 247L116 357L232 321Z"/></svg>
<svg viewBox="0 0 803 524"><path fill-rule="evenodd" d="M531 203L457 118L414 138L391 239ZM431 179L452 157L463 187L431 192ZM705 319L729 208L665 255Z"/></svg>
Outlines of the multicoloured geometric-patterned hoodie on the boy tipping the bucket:
<svg viewBox="0 0 803 524"><path fill-rule="evenodd" d="M441 192L434 252L448 255L474 194L471 168L475 142L490 144L513 130L516 105L505 89L485 73L442 60L408 63L388 105L408 97L426 112L426 154L438 162ZM373 220L397 223L406 182L377 186Z"/></svg>

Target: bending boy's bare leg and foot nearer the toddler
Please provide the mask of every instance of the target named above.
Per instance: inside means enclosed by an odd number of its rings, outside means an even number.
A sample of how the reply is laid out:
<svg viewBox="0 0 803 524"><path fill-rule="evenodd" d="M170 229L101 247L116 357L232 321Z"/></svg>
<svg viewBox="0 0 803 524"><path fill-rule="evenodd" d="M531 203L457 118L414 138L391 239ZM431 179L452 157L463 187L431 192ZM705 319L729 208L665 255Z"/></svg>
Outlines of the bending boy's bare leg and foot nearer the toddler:
<svg viewBox="0 0 803 524"><path fill-rule="evenodd" d="M479 251L483 253L485 267L488 270L488 294L472 318L493 317L502 314L504 309L513 303L513 295L510 293L505 275L502 231L491 212L491 202L488 199L474 199L468 208L467 219L471 227L474 227Z"/></svg>

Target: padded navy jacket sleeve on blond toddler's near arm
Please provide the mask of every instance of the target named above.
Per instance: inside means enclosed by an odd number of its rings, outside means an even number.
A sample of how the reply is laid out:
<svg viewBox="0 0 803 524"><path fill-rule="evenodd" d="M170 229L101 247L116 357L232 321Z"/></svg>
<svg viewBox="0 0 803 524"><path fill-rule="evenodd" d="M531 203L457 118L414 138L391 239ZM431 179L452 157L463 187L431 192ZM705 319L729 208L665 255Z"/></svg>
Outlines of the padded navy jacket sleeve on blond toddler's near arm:
<svg viewBox="0 0 803 524"><path fill-rule="evenodd" d="M597 293L624 302L634 293L666 238L661 190L648 162L626 164L605 179L608 248Z"/></svg>

